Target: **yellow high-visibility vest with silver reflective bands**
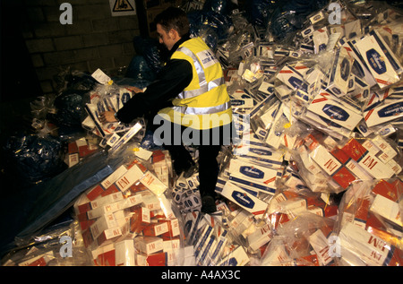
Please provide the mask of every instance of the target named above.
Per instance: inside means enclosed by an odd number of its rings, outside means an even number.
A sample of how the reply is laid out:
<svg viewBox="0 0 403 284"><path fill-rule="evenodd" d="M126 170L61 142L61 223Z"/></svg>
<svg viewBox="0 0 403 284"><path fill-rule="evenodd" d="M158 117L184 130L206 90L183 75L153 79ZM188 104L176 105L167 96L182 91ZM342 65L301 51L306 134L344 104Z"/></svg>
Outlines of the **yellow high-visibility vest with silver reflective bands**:
<svg viewBox="0 0 403 284"><path fill-rule="evenodd" d="M221 65L201 38L184 41L171 59L187 60L193 68L192 82L172 100L173 107L159 115L193 129L210 129L228 125L232 108Z"/></svg>

